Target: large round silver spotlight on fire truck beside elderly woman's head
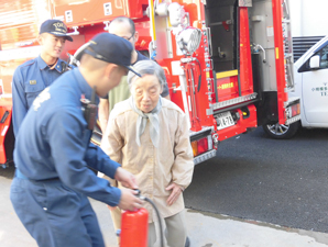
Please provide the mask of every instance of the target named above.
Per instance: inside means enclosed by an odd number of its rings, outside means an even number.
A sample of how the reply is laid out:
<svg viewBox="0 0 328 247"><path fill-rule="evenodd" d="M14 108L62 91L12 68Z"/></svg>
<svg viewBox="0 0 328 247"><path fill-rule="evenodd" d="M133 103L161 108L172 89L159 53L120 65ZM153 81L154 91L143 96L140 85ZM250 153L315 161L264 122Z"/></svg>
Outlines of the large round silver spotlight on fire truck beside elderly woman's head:
<svg viewBox="0 0 328 247"><path fill-rule="evenodd" d="M177 37L177 44L184 55L192 56L199 47L201 40L201 32L195 27L187 27L182 30Z"/></svg>

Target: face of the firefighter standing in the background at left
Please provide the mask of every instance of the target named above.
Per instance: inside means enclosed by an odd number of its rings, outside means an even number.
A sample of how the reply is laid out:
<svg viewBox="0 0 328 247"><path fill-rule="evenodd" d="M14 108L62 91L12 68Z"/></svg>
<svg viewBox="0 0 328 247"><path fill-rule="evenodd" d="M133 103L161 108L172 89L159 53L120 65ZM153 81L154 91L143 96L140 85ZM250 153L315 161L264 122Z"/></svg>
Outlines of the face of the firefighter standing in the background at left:
<svg viewBox="0 0 328 247"><path fill-rule="evenodd" d="M40 44L42 45L42 53L46 56L57 58L61 56L65 47L65 37L55 36L50 33L43 33L40 35Z"/></svg>

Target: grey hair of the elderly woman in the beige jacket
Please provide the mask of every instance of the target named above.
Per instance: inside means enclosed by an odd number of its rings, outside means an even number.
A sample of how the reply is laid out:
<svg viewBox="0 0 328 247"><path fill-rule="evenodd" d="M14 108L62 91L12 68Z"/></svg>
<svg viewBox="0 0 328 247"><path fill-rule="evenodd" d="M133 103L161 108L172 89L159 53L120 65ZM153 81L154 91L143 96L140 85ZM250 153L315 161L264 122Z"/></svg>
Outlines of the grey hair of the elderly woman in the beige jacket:
<svg viewBox="0 0 328 247"><path fill-rule="evenodd" d="M138 61L136 64L133 65L133 69L136 72L139 72L142 77L144 75L155 76L158 79L160 85L161 85L162 88L166 83L164 69L153 60ZM131 86L132 86L133 81L136 79L135 77L138 78L138 76L134 72L129 71L129 74L128 74L128 83L129 83L130 89L131 89Z"/></svg>

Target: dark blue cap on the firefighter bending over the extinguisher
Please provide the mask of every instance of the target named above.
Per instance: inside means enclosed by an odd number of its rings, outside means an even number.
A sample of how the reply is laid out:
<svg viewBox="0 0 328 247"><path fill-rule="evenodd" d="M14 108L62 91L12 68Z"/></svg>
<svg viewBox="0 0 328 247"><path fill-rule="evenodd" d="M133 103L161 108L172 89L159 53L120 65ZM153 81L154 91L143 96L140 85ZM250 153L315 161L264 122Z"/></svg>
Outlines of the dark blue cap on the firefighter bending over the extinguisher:
<svg viewBox="0 0 328 247"><path fill-rule="evenodd" d="M96 59L123 66L141 77L131 67L133 46L125 38L110 33L100 33L89 41L89 47L92 50L85 49L85 53Z"/></svg>

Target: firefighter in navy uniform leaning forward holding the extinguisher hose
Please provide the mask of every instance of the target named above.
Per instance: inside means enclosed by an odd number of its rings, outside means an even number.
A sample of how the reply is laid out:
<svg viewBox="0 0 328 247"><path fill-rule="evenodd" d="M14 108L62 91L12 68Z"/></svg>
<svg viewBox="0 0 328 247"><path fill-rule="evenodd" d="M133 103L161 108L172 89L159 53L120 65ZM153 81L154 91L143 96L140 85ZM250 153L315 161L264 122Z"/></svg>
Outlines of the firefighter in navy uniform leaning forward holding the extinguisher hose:
<svg viewBox="0 0 328 247"><path fill-rule="evenodd" d="M98 34L85 49L80 66L41 92L22 122L10 198L39 246L105 247L87 197L123 210L141 207L132 190L138 188L134 176L90 143L98 97L106 96L131 69L131 52L124 38ZM92 92L97 93L95 103ZM88 167L125 188L111 187Z"/></svg>

